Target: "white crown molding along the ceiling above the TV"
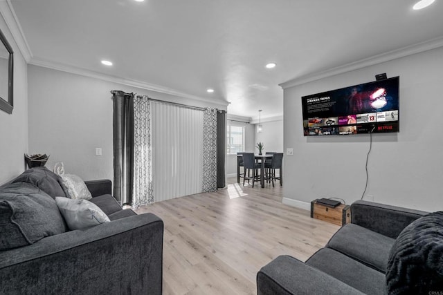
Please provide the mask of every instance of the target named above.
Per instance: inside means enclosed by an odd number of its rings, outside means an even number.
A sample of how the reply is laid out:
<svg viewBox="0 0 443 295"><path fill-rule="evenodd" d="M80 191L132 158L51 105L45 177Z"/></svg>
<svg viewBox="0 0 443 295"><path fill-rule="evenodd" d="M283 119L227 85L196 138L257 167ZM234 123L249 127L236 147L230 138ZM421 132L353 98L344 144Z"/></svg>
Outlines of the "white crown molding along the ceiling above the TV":
<svg viewBox="0 0 443 295"><path fill-rule="evenodd" d="M361 59L360 61L354 61L350 64L345 64L343 66L338 66L336 68L330 68L329 70L323 70L318 73L312 73L296 79L291 79L287 82L279 84L283 89L290 88L293 86L298 86L306 84L308 82L314 82L319 79L324 79L327 77L332 77L334 75L339 75L343 73L350 72L352 70L359 70L361 68L366 68L368 66L374 66L376 64L381 64L386 61L391 61L394 59L399 59L401 57L407 57L409 55L414 55L416 53L422 53L427 50L432 50L443 46L443 37L438 37L428 41L421 42L419 44L414 44L411 46L406 46L397 50L391 50L387 53L381 53L380 55L374 55L373 57L368 57L366 59Z"/></svg>

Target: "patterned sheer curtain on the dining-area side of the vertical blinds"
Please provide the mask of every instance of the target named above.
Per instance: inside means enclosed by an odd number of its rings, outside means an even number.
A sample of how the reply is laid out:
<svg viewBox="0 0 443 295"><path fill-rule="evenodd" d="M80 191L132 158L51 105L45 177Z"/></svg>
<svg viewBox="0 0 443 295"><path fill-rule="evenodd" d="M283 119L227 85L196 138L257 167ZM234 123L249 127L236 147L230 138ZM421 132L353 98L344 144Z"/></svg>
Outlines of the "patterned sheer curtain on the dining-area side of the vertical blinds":
<svg viewBox="0 0 443 295"><path fill-rule="evenodd" d="M203 188L217 191L217 108L205 108L203 126Z"/></svg>

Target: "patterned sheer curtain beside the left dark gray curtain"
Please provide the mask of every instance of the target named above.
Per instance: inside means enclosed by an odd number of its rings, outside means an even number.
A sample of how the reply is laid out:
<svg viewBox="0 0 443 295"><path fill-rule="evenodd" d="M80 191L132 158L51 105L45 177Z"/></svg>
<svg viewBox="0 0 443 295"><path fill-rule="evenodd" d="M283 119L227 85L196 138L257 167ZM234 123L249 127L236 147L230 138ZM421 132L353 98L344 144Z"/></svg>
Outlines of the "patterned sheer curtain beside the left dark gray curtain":
<svg viewBox="0 0 443 295"><path fill-rule="evenodd" d="M151 151L151 104L146 95L137 95L134 97L134 208L154 202Z"/></svg>

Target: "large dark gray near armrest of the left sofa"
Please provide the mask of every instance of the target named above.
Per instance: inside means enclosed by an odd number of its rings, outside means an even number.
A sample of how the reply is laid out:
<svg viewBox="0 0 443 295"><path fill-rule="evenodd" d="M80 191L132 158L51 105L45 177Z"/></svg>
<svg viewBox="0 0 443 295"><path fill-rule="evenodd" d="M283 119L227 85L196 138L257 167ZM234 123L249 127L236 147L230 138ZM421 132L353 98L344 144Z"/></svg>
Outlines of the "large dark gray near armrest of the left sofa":
<svg viewBox="0 0 443 295"><path fill-rule="evenodd" d="M163 221L152 213L0 251L1 294L161 294Z"/></svg>

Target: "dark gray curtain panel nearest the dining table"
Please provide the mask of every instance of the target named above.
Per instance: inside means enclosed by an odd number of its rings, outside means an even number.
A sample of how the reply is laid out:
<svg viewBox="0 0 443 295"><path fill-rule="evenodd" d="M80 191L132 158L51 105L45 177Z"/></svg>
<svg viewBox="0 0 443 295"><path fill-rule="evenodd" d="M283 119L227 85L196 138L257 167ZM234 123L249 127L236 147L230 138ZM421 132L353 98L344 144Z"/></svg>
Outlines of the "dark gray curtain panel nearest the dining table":
<svg viewBox="0 0 443 295"><path fill-rule="evenodd" d="M226 111L217 112L217 189L226 186L225 178L226 155Z"/></svg>

